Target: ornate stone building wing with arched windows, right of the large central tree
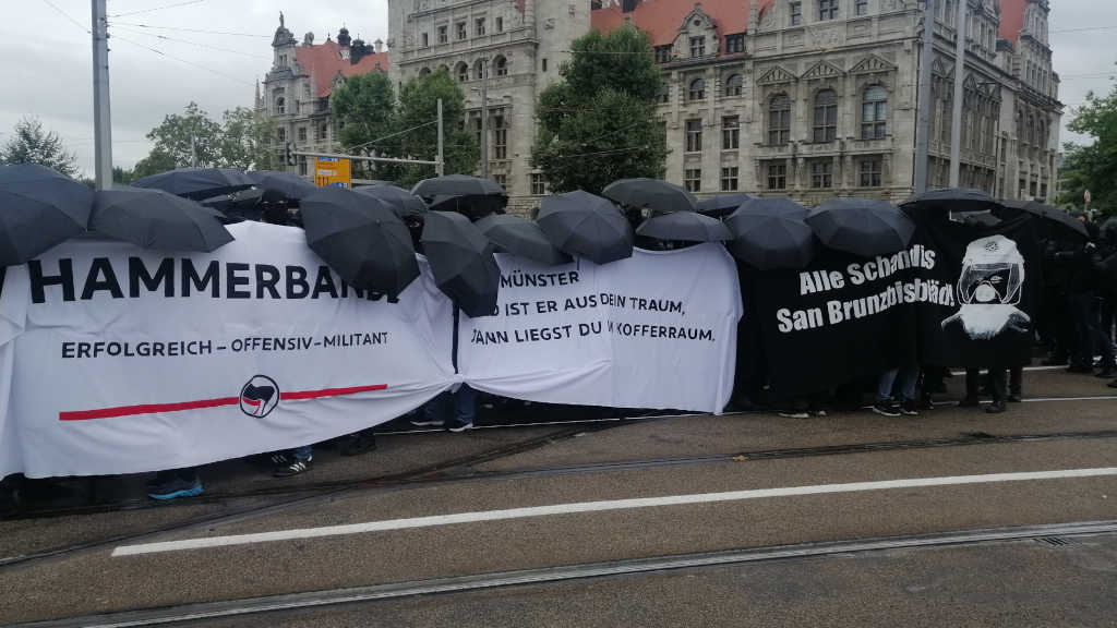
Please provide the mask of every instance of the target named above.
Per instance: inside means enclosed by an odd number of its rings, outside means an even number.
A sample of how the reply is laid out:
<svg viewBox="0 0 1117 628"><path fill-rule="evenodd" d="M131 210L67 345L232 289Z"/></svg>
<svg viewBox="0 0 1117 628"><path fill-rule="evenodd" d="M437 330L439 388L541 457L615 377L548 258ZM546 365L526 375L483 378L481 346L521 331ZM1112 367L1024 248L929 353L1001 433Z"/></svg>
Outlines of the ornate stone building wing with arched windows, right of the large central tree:
<svg viewBox="0 0 1117 628"><path fill-rule="evenodd" d="M962 175L1050 199L1061 105L1047 0L970 6ZM700 194L903 200L914 181L923 8L914 0L602 0L592 26L647 31L667 85L667 179ZM948 182L955 11L938 3L930 183Z"/></svg>

